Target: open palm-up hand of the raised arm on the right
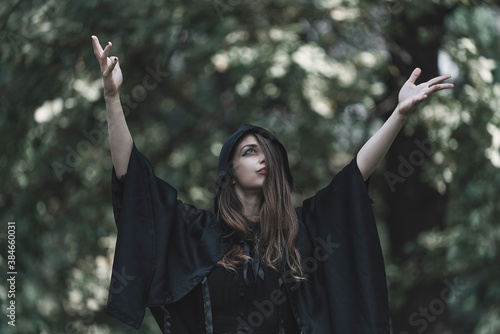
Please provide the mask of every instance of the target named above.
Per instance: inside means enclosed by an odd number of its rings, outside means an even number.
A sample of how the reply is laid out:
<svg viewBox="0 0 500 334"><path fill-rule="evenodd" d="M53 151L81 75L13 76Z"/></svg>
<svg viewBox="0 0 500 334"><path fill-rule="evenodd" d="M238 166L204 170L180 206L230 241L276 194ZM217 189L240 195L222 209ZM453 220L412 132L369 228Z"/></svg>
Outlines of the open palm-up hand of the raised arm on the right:
<svg viewBox="0 0 500 334"><path fill-rule="evenodd" d="M427 82L415 85L418 77L422 73L420 68L413 70L410 78L405 82L401 90L399 91L399 103L398 110L399 113L408 116L415 108L431 94L443 90L453 88L451 83L442 83L443 81L449 79L449 75L441 75L435 77Z"/></svg>

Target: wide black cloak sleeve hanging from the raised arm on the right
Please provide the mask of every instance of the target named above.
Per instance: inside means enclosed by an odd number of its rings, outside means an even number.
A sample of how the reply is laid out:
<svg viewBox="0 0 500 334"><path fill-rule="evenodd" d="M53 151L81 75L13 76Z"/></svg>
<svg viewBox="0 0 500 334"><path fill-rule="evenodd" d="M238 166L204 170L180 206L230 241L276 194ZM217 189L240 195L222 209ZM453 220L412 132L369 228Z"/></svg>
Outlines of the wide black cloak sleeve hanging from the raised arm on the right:
<svg viewBox="0 0 500 334"><path fill-rule="evenodd" d="M288 282L304 333L389 333L384 259L354 158L297 209L305 282Z"/></svg>

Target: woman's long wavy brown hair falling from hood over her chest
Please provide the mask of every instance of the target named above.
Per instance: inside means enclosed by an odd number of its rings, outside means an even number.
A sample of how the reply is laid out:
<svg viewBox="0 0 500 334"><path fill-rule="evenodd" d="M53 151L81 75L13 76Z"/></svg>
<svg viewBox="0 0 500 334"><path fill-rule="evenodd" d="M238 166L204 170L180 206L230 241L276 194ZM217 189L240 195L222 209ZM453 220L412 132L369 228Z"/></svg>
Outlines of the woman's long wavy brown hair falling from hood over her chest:
<svg viewBox="0 0 500 334"><path fill-rule="evenodd" d="M295 247L299 222L292 203L292 189L285 174L283 156L272 141L257 132L251 133L257 138L266 161L266 178L259 224L252 226L251 222L243 216L243 205L230 182L234 175L231 163L234 152L229 159L228 178L222 183L216 198L216 213L219 219L227 224L228 236L236 235L241 239L256 238L258 240L259 257L263 264L276 271L282 271L286 266L293 279L302 280L304 272L300 263L300 254ZM238 143L234 148L237 146ZM219 261L219 264L228 270L235 271L236 266L245 259L249 258L243 253L243 246L235 244Z"/></svg>

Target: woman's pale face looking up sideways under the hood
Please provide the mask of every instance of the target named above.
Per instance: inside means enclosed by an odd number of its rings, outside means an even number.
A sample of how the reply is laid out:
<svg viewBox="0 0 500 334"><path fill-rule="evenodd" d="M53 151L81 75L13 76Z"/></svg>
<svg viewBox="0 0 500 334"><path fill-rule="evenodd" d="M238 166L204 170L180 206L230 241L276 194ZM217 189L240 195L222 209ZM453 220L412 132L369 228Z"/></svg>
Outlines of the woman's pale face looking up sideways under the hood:
<svg viewBox="0 0 500 334"><path fill-rule="evenodd" d="M240 141L233 156L233 184L243 192L262 191L266 178L265 157L253 134Z"/></svg>

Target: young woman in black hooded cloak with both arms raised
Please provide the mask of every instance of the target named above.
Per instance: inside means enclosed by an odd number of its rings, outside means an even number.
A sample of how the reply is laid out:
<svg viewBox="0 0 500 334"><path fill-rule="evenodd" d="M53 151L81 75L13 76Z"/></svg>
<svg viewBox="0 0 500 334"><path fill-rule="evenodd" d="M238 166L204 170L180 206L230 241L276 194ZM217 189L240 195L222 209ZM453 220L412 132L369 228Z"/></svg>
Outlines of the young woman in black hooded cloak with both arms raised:
<svg viewBox="0 0 500 334"><path fill-rule="evenodd" d="M384 261L365 181L415 107L452 88L420 85L349 165L294 209L283 145L240 127L223 145L214 213L177 199L135 147L122 74L92 36L104 80L118 228L107 312L139 328L149 307L163 333L389 333Z"/></svg>

